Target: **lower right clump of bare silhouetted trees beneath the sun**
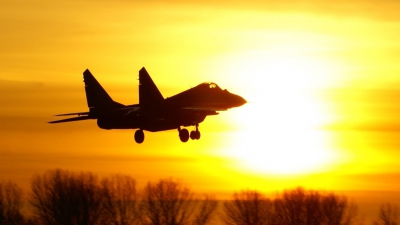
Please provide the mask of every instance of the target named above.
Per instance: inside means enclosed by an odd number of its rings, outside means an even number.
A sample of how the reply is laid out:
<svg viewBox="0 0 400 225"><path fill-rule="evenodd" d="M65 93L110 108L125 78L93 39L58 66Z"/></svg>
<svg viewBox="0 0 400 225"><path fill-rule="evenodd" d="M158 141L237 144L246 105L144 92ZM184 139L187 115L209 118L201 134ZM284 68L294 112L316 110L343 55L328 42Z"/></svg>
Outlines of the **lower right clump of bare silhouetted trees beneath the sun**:
<svg viewBox="0 0 400 225"><path fill-rule="evenodd" d="M223 221L229 225L352 225L357 210L347 198L333 193L283 191L274 200L257 191L234 193L225 203Z"/></svg>

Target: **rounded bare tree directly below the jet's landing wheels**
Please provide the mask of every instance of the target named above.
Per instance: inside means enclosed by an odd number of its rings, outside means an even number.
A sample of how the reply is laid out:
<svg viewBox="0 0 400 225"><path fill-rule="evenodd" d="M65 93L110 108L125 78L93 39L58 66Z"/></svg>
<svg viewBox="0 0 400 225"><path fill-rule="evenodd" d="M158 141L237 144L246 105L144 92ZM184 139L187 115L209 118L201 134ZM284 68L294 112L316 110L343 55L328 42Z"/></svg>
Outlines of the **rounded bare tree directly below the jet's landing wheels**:
<svg viewBox="0 0 400 225"><path fill-rule="evenodd" d="M141 203L143 222L153 225L189 224L196 207L193 195L189 188L172 179L149 182Z"/></svg>

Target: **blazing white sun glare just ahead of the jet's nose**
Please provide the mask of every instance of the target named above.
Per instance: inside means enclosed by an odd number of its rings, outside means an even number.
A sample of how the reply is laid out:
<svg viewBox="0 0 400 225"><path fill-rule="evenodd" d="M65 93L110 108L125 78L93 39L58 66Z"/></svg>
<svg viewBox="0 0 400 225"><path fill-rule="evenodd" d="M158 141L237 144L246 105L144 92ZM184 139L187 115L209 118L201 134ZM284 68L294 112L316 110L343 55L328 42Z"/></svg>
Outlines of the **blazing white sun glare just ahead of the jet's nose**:
<svg viewBox="0 0 400 225"><path fill-rule="evenodd" d="M225 59L230 76L243 76L245 106L229 112L238 129L224 154L259 174L298 175L329 169L339 157L329 145L329 121L318 91L329 85L333 64L296 46L245 51Z"/></svg>

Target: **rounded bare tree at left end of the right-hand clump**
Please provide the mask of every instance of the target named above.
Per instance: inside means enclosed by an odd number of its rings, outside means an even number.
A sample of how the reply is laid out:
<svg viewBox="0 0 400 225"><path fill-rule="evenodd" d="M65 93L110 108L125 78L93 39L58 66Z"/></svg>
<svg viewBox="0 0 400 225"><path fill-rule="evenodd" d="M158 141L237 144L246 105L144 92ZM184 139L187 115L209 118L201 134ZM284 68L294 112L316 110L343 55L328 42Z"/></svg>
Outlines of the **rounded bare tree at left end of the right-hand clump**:
<svg viewBox="0 0 400 225"><path fill-rule="evenodd" d="M224 204L222 220L229 225L272 224L271 200L257 191L241 191L233 194L233 200Z"/></svg>

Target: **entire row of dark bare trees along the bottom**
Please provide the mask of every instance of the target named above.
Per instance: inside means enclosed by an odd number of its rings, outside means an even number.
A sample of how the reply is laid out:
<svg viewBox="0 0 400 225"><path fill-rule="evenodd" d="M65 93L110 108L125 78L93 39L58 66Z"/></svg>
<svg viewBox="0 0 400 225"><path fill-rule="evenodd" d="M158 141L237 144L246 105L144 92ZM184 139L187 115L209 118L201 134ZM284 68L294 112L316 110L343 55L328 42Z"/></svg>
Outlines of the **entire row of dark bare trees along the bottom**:
<svg viewBox="0 0 400 225"><path fill-rule="evenodd" d="M182 182L163 179L136 189L130 176L52 170L31 181L29 205L12 182L0 183L0 225L355 225L357 206L345 196L296 188L268 198L255 190L232 200L198 196ZM393 205L382 205L374 225L399 224Z"/></svg>

